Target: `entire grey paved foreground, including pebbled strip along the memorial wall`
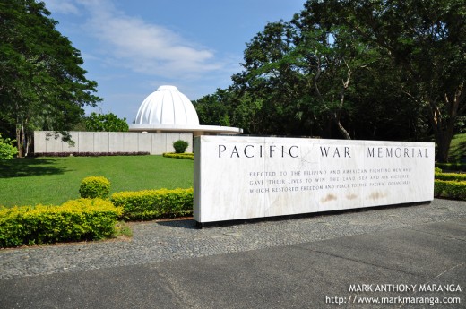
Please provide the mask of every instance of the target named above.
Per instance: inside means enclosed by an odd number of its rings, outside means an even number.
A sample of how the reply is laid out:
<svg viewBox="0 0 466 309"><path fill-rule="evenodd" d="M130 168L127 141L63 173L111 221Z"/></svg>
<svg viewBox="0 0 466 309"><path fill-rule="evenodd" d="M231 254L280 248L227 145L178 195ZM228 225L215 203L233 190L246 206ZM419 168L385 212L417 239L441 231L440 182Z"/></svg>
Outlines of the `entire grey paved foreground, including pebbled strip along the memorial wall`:
<svg viewBox="0 0 466 309"><path fill-rule="evenodd" d="M0 250L0 308L466 307L466 202L133 229Z"/></svg>

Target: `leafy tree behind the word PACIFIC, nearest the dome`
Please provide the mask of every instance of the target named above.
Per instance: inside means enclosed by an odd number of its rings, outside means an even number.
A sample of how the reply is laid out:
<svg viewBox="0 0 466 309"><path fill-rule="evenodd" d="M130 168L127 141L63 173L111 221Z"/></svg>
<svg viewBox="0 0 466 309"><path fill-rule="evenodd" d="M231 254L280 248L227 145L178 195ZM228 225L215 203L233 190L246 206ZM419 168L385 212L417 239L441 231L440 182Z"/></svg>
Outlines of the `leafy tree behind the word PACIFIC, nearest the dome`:
<svg viewBox="0 0 466 309"><path fill-rule="evenodd" d="M293 30L288 22L268 23L246 44L244 70L233 75L229 90L234 93L230 103L235 118L242 119L249 133L301 135L307 131L309 122L298 104L306 81L289 58Z"/></svg>

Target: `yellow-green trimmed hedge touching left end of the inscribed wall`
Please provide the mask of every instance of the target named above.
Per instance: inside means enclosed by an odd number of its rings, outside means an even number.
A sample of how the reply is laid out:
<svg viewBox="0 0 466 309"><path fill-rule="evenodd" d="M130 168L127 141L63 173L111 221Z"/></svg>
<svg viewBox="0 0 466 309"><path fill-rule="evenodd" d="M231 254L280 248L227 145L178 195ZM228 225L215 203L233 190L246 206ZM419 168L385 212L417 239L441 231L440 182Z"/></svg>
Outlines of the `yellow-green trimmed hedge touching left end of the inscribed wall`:
<svg viewBox="0 0 466 309"><path fill-rule="evenodd" d="M193 213L193 188L120 192L111 202L123 210L125 220L176 218Z"/></svg>

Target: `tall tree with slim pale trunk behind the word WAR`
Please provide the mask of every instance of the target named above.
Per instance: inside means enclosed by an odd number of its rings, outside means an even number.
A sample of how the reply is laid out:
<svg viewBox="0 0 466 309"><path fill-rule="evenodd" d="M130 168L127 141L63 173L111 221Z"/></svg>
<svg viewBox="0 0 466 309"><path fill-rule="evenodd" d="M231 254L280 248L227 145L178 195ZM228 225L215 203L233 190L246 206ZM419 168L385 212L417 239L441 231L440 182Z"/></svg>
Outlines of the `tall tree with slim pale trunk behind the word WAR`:
<svg viewBox="0 0 466 309"><path fill-rule="evenodd" d="M355 38L346 27L325 23L325 16L303 11L292 21L298 31L290 56L306 75L307 104L318 118L327 119L327 127L335 126L340 136L351 139L350 117L357 105L349 94L354 91L355 75L367 69L379 55ZM326 134L328 137L332 133Z"/></svg>

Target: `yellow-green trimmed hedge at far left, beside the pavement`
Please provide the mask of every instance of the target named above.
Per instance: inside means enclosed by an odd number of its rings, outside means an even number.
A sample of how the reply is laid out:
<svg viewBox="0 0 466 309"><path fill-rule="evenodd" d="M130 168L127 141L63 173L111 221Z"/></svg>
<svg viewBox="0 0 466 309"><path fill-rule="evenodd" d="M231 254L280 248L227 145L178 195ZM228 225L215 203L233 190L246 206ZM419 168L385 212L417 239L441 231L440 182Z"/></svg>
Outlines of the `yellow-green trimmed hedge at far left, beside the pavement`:
<svg viewBox="0 0 466 309"><path fill-rule="evenodd" d="M114 235L121 213L111 202L100 199L0 208L0 246L106 238Z"/></svg>

